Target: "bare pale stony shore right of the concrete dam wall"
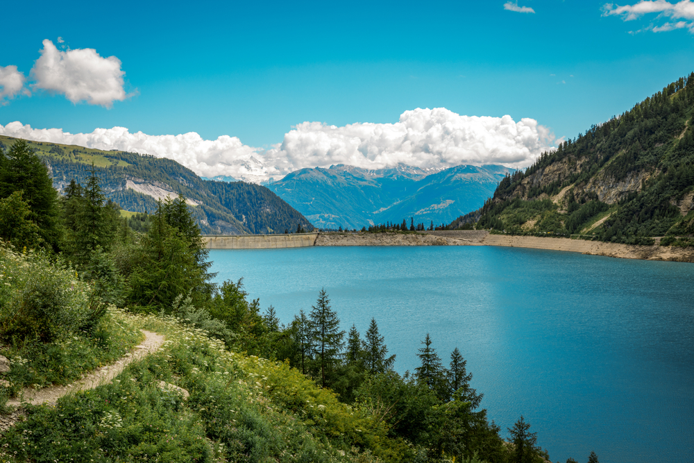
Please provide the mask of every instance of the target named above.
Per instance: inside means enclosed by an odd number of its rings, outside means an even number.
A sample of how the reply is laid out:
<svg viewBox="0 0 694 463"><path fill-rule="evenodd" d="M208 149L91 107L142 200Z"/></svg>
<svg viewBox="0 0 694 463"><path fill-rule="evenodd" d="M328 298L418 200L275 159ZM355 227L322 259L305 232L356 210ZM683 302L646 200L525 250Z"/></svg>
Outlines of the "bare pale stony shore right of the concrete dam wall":
<svg viewBox="0 0 694 463"><path fill-rule="evenodd" d="M583 239L491 235L486 230L441 230L421 233L320 233L316 246L506 246L569 251L612 258L694 262L694 249L632 246Z"/></svg>

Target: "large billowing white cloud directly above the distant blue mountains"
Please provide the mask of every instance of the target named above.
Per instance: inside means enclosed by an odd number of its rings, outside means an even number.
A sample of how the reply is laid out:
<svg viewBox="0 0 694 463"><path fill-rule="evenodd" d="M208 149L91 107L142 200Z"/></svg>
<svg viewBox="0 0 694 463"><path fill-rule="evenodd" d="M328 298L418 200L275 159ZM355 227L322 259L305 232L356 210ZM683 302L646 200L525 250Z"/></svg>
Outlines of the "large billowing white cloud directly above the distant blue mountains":
<svg viewBox="0 0 694 463"><path fill-rule="evenodd" d="M462 116L446 108L405 111L395 124L328 126L304 122L285 134L271 158L290 165L349 164L382 169L460 164L530 165L552 141L534 119Z"/></svg>

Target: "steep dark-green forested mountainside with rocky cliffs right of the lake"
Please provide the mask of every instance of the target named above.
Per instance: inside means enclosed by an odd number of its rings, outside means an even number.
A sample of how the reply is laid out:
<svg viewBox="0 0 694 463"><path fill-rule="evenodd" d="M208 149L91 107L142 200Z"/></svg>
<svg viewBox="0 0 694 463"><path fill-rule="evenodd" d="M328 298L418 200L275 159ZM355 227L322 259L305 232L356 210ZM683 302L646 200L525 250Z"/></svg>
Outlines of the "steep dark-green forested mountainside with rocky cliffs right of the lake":
<svg viewBox="0 0 694 463"><path fill-rule="evenodd" d="M504 178L477 228L686 246L694 233L694 73Z"/></svg>

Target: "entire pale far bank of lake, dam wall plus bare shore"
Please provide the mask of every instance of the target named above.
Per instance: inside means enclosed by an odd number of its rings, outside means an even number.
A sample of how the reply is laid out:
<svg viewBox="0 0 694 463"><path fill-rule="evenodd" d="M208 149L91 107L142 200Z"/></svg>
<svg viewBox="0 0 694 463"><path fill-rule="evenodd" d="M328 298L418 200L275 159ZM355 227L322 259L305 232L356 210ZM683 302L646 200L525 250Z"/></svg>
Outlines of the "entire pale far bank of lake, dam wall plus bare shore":
<svg viewBox="0 0 694 463"><path fill-rule="evenodd" d="M611 258L694 262L694 249L634 246L584 239L492 235L486 230L419 233L290 233L283 235L203 235L208 249L285 249L310 246L505 246L568 251Z"/></svg>

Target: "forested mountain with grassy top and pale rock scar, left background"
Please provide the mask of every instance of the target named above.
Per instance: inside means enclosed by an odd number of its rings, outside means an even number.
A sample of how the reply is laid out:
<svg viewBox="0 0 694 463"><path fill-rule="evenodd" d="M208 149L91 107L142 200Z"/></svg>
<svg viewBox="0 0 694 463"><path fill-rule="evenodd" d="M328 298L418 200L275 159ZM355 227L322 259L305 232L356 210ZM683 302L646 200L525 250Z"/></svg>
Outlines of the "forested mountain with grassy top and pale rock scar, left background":
<svg viewBox="0 0 694 463"><path fill-rule="evenodd" d="M14 143L0 136L6 148ZM73 178L85 183L92 162L105 195L133 212L153 212L157 199L183 194L203 233L283 233L309 221L260 185L202 180L174 160L125 151L101 151L48 142L28 144L49 168L53 185L62 191Z"/></svg>

